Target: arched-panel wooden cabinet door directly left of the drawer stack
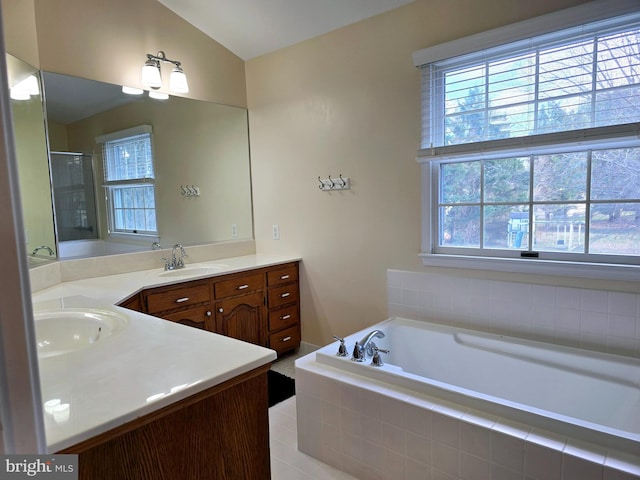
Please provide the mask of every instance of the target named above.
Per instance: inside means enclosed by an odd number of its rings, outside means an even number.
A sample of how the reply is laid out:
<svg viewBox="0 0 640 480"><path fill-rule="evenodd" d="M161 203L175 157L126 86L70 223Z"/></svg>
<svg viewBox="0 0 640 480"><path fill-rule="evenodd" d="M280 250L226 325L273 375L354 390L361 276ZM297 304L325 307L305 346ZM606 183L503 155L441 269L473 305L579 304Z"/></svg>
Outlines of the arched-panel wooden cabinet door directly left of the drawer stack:
<svg viewBox="0 0 640 480"><path fill-rule="evenodd" d="M264 295L256 292L215 303L216 333L267 345Z"/></svg>

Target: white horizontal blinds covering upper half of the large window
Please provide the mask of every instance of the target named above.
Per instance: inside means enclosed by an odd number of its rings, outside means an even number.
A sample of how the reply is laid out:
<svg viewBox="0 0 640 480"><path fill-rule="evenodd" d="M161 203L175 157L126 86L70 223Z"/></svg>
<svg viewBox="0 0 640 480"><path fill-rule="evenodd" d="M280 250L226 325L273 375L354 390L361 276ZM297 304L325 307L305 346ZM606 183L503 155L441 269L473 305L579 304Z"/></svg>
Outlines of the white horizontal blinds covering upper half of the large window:
<svg viewBox="0 0 640 480"><path fill-rule="evenodd" d="M422 71L422 148L640 122L640 12Z"/></svg>

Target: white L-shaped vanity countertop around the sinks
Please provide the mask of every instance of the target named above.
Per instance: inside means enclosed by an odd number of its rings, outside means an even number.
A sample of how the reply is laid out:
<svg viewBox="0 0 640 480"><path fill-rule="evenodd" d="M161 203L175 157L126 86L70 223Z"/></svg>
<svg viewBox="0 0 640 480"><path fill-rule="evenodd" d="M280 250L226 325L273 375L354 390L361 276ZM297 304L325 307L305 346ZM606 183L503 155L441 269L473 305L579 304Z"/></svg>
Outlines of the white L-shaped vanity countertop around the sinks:
<svg viewBox="0 0 640 480"><path fill-rule="evenodd" d="M115 306L149 287L278 265L299 258L248 255L64 282L33 294L34 312L98 308L127 326L72 353L39 359L42 401L69 404L69 418L45 413L49 452L91 438L276 359L273 350ZM216 273L204 269L215 268ZM193 269L190 274L189 270Z"/></svg>

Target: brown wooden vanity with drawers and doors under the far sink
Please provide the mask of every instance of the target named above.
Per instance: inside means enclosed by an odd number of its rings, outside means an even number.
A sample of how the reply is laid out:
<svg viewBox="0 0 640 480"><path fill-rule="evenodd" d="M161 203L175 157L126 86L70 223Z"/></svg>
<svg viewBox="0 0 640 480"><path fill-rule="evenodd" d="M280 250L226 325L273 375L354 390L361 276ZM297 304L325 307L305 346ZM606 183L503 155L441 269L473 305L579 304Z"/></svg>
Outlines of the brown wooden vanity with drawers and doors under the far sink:
<svg viewBox="0 0 640 480"><path fill-rule="evenodd" d="M269 347L300 346L298 262L143 290L120 305Z"/></svg>

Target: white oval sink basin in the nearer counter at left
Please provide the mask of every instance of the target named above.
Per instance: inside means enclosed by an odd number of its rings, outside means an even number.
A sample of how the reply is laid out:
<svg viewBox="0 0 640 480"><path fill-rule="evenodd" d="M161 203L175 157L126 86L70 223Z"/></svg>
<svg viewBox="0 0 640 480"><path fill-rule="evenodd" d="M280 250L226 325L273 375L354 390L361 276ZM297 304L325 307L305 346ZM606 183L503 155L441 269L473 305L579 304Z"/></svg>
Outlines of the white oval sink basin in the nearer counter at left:
<svg viewBox="0 0 640 480"><path fill-rule="evenodd" d="M95 345L125 329L126 315L93 308L35 312L38 357L53 357Z"/></svg>

